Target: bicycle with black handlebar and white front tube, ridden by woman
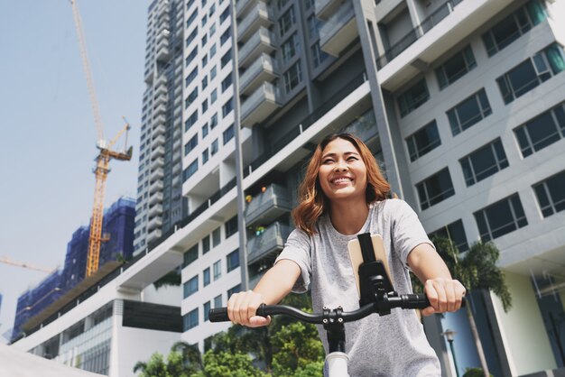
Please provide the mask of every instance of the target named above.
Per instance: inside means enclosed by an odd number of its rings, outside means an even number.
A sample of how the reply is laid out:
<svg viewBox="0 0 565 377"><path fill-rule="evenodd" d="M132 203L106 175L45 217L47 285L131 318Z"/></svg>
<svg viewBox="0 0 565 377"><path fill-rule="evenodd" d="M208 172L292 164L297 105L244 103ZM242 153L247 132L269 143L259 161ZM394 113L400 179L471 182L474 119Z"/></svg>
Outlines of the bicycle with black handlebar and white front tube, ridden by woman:
<svg viewBox="0 0 565 377"><path fill-rule="evenodd" d="M307 313L285 305L262 304L256 310L257 316L285 315L314 325L322 325L326 330L329 354L326 355L329 377L348 377L348 356L346 354L346 333L344 324L357 321L371 314L385 316L393 308L422 309L430 306L423 293L398 294L388 275L388 268L382 260L375 259L374 239L369 234L357 235L363 253L358 266L359 306L357 310L344 312L343 308L324 307L321 313ZM374 236L373 236L374 237ZM377 253L378 255L378 253ZM210 322L229 321L227 308L212 308L208 311Z"/></svg>

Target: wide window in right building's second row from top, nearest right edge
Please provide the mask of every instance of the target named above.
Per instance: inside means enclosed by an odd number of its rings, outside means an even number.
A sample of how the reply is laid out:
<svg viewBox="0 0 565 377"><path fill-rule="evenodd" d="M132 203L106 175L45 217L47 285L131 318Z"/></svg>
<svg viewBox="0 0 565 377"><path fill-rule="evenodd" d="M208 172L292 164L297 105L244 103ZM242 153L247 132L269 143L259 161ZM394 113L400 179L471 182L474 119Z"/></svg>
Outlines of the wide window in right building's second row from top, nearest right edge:
<svg viewBox="0 0 565 377"><path fill-rule="evenodd" d="M509 104L563 69L565 69L563 48L557 43L552 43L533 58L523 61L514 69L496 78L496 82L505 104Z"/></svg>

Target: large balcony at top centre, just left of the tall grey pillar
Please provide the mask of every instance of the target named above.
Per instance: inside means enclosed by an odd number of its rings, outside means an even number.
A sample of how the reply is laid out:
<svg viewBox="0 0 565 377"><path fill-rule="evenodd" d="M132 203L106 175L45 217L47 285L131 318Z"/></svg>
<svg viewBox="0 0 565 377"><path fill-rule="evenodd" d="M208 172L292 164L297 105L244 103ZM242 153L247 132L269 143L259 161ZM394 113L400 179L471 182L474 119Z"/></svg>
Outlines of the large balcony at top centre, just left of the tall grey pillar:
<svg viewBox="0 0 565 377"><path fill-rule="evenodd" d="M320 48L338 57L357 38L357 21L351 1L341 5L320 28Z"/></svg>

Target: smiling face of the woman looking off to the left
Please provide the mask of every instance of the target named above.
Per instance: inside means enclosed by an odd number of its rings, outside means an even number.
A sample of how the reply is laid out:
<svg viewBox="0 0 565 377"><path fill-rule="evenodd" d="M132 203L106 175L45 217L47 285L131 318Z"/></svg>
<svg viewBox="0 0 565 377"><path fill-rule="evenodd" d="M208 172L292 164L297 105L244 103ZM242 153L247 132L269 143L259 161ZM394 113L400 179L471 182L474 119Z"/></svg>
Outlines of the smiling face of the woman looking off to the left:
<svg viewBox="0 0 565 377"><path fill-rule="evenodd" d="M365 200L366 165L357 148L344 139L335 139L322 151L320 187L329 200L360 197Z"/></svg>

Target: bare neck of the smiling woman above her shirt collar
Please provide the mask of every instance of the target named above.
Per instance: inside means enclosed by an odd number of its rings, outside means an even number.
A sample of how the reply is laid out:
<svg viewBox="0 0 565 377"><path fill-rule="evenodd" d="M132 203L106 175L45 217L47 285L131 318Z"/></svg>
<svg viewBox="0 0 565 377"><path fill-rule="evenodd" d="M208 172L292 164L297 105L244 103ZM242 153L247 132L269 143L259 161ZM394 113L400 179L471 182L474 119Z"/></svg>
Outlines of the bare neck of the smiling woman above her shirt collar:
<svg viewBox="0 0 565 377"><path fill-rule="evenodd" d="M369 206L363 200L333 201L330 204L331 224L340 234L357 234L369 216Z"/></svg>

